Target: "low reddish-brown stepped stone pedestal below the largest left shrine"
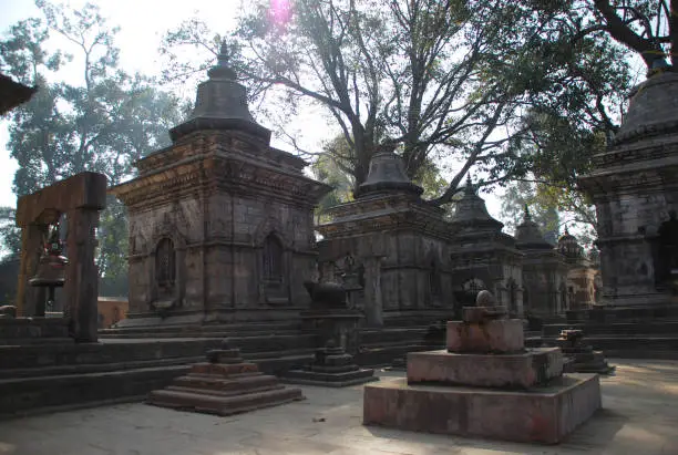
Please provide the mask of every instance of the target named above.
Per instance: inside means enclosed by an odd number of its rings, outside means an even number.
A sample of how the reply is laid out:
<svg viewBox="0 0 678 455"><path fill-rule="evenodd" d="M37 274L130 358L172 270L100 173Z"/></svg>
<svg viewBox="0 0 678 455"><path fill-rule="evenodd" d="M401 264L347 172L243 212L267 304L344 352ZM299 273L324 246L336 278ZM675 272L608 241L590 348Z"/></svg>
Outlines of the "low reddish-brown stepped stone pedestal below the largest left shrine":
<svg viewBox="0 0 678 455"><path fill-rule="evenodd" d="M151 392L146 403L217 415L232 415L260 407L304 400L299 389L288 389L276 376L246 363L237 349L209 351L209 362L192 365L166 389Z"/></svg>

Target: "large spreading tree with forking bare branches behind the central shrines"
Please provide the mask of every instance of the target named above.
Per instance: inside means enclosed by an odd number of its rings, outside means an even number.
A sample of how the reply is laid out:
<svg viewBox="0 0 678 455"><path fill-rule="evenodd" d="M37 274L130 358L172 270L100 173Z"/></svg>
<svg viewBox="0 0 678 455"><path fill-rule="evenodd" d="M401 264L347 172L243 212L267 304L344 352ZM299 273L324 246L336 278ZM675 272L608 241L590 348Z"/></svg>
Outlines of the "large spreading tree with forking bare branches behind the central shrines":
<svg viewBox="0 0 678 455"><path fill-rule="evenodd" d="M531 170L534 149L524 146L535 128L525 121L535 118L531 112L553 115L567 104L566 120L589 113L608 120L609 87L628 69L616 64L619 46L585 32L590 8L572 11L572 3L390 0L384 8L371 0L298 0L271 9L259 2L228 40L254 96L282 87L285 107L311 101L326 110L350 145L332 159L350 168L355 185L381 142L401 144L413 178L431 154L455 162L449 186L432 199L440 205L471 167L486 175L481 184ZM192 20L167 33L162 52L178 64L182 45L215 52L222 38ZM606 65L595 77L582 72ZM179 66L191 73L185 62Z"/></svg>

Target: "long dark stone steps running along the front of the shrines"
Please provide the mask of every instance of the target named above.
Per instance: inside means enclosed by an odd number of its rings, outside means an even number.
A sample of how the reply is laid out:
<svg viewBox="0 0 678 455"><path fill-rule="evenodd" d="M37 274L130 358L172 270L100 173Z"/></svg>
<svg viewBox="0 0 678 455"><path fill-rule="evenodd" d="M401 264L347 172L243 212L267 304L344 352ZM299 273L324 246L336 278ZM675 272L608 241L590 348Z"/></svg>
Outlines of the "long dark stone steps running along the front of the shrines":
<svg viewBox="0 0 678 455"><path fill-rule="evenodd" d="M47 324L66 327L55 319ZM17 331L16 343L0 345L0 417L143 400L203 361L224 339L268 374L312 362L318 348L317 334L290 322L102 330L100 343L85 344L73 343L63 337L66 332L49 327L33 333L32 340L41 342L20 344L25 337ZM407 352L443 345L441 328L363 329L356 362L384 365Z"/></svg>

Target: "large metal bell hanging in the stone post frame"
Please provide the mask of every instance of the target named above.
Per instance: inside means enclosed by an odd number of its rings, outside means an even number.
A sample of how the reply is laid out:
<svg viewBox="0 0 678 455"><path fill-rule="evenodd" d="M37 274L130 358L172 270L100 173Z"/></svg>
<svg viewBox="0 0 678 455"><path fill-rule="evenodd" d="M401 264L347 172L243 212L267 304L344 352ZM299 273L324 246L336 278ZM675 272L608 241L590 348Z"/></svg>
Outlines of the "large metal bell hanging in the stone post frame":
<svg viewBox="0 0 678 455"><path fill-rule="evenodd" d="M54 289L63 287L65 282L65 267L69 260L62 255L62 242L59 237L59 224L56 224L50 232L50 237L40 256L38 271L35 276L29 280L30 286L49 289L47 301L49 311L51 311L54 306ZM42 304L40 307L42 307ZM44 316L44 307L40 308L35 316Z"/></svg>

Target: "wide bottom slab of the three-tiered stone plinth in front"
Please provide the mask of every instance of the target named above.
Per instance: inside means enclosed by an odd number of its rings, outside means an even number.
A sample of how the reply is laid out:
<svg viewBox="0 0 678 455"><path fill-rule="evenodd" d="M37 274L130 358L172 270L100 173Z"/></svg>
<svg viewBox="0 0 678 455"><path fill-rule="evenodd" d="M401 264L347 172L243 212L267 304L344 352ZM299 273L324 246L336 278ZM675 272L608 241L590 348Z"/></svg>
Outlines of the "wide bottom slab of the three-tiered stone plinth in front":
<svg viewBox="0 0 678 455"><path fill-rule="evenodd" d="M597 374L568 374L530 391L364 386L362 423L414 432L557 444L600 407Z"/></svg>

